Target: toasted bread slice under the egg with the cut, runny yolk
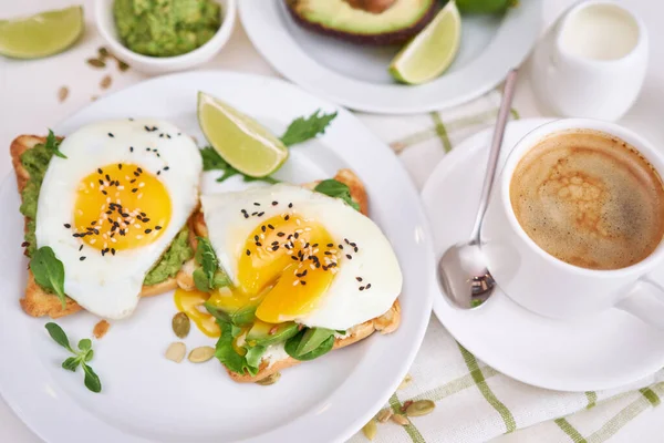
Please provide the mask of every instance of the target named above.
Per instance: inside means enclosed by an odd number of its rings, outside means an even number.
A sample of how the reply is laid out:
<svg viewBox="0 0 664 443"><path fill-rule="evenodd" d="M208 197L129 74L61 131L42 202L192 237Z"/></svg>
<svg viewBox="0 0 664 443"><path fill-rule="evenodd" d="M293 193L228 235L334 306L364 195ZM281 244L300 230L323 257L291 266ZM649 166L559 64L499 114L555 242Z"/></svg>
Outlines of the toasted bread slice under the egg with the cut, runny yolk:
<svg viewBox="0 0 664 443"><path fill-rule="evenodd" d="M369 199L366 196L366 189L364 188L364 184L362 183L362 181L360 181L360 178L355 175L355 173L353 173L351 169L340 169L336 173L336 175L334 176L334 179L345 184L351 189L351 197L353 198L353 200L355 203L357 203L360 205L361 213L364 215L367 215ZM317 184L318 184L318 182L309 183L309 184L303 185L303 187L313 189ZM207 237L208 229L205 224L205 217L203 215L203 212L195 214L193 216L193 219L194 219L194 230L196 231L196 234L201 237ZM194 289L194 287L195 287L194 278L191 276L191 272L194 271L194 266L190 267L190 272L188 276L184 275L185 270L188 270L187 266L183 267L183 272L181 272L183 277L181 277L181 279L178 278L178 282L180 282L180 280L181 280L183 284L185 284L185 286L180 286L180 287L183 287L183 289L187 289L187 288L189 288L189 290ZM356 343L360 340L367 338L375 331L380 331L381 333L394 332L398 328L400 324L401 324L401 305L398 302L398 299L396 299L396 300L394 300L392 308L390 308L390 310L387 310L387 312L383 313L380 317L376 317L374 319L365 321L362 324L354 326L353 328L351 328L349 330L349 333L346 337L336 338L334 340L334 347L332 349L340 349L340 348L344 348L350 344ZM273 361L273 362L268 362L268 361L263 360L261 362L261 364L259 367L259 371L256 375L238 374L236 372L231 372L228 370L227 370L227 372L232 380L235 380L239 383L251 383L251 382L257 382L259 380L262 380L266 377L273 374L274 372L279 372L279 371L290 368L290 367L294 367L295 364L299 364L299 363L300 363L300 360L295 360L292 357L288 357L286 359L282 359L279 361Z"/></svg>

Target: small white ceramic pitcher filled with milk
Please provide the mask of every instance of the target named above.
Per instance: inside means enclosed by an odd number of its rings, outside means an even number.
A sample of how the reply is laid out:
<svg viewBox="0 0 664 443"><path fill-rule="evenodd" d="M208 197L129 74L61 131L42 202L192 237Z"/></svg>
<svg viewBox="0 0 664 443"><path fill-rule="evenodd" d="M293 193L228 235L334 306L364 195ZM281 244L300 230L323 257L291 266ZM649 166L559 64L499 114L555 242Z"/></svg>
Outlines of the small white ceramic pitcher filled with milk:
<svg viewBox="0 0 664 443"><path fill-rule="evenodd" d="M647 32L627 6L590 0L572 7L532 55L538 100L567 117L615 121L639 96L647 69Z"/></svg>

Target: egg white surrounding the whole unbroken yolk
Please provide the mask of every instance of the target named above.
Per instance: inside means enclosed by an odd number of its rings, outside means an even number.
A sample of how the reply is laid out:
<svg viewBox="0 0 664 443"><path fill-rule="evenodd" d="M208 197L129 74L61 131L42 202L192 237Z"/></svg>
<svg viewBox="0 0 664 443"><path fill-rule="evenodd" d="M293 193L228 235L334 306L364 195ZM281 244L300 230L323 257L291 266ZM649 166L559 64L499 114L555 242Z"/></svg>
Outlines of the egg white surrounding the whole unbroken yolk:
<svg viewBox="0 0 664 443"><path fill-rule="evenodd" d="M145 126L157 130L148 132ZM154 148L158 148L159 156ZM86 125L66 136L60 151L66 158L53 156L39 195L37 245L50 246L62 261L69 297L100 317L127 317L138 302L145 275L197 206L203 171L198 148L172 123L142 119ZM164 233L152 244L102 256L100 250L72 237L63 224L73 226L80 182L96 168L117 163L136 164L153 174L162 171L158 178L170 196L172 215ZM163 171L165 166L167 171ZM84 246L80 251L81 245Z"/></svg>

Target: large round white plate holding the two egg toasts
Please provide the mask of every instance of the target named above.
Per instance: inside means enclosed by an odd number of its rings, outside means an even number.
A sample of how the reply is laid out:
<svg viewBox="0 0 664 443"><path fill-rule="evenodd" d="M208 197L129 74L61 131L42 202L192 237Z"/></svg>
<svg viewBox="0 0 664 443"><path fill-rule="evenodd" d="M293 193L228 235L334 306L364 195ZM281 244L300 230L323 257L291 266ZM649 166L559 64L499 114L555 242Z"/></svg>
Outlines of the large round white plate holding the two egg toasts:
<svg viewBox="0 0 664 443"><path fill-rule="evenodd" d="M14 177L0 189L0 392L15 413L52 443L344 441L387 401L411 365L430 316L434 260L415 187L392 151L351 113L283 81L229 72L160 76L94 102L55 127L66 135L105 119L154 116L176 123L203 144L196 93L208 92L271 127L317 109L338 111L324 136L291 148L280 172L294 183L352 167L364 181L371 215L392 241L404 271L402 324L283 372L272 387L232 382L221 365L180 364L164 358L175 341L173 297L144 299L135 315L94 340L93 368L103 392L83 374L60 368L66 352L44 330L45 319L19 307L27 260ZM35 127L35 133L45 128ZM359 150L357 147L362 148ZM219 173L209 173L214 183ZM236 183L237 185L237 183ZM71 340L92 336L96 318L80 312L58 320ZM74 341L74 342L75 342ZM193 328L187 347L214 346Z"/></svg>

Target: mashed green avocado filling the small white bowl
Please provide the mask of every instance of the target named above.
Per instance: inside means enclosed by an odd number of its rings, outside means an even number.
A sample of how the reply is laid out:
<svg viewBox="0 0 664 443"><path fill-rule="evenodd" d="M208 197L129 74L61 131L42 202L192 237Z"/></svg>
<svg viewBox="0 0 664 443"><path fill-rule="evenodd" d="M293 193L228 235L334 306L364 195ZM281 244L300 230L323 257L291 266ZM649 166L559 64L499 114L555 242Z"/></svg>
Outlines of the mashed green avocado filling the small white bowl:
<svg viewBox="0 0 664 443"><path fill-rule="evenodd" d="M215 0L115 0L113 16L123 44L152 56L194 51L221 25Z"/></svg>

